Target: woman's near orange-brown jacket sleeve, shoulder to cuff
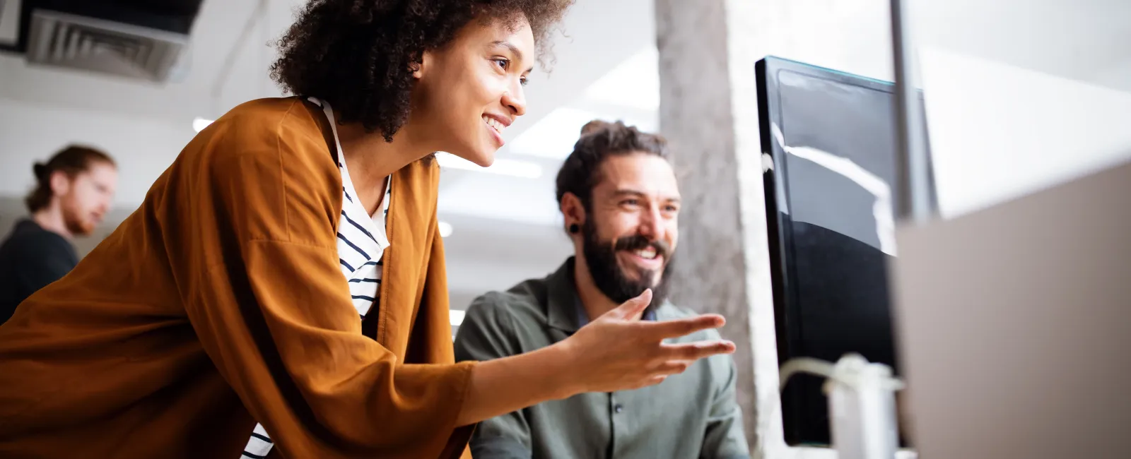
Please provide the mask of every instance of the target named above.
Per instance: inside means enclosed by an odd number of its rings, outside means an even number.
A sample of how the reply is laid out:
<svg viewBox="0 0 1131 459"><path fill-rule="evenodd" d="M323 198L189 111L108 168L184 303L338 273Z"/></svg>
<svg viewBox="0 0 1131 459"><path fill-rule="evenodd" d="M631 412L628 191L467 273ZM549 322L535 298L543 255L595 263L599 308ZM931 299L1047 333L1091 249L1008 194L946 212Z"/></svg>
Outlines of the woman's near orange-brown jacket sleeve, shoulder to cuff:
<svg viewBox="0 0 1131 459"><path fill-rule="evenodd" d="M192 260L171 260L189 320L284 457L439 457L474 364L405 364L361 334L335 243L336 166L323 139L290 131L219 125L193 141L206 165L171 211L192 229L166 241Z"/></svg>

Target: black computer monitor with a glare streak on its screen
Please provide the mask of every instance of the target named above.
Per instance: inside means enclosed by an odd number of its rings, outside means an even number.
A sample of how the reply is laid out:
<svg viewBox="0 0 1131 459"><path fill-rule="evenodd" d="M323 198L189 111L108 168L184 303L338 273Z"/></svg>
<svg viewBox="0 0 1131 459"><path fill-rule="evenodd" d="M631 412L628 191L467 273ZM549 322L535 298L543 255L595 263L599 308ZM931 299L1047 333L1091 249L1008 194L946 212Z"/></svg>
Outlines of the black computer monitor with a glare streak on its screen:
<svg viewBox="0 0 1131 459"><path fill-rule="evenodd" d="M899 374L895 86L778 58L757 63L778 363L858 353ZM782 395L788 444L830 443L823 380Z"/></svg>

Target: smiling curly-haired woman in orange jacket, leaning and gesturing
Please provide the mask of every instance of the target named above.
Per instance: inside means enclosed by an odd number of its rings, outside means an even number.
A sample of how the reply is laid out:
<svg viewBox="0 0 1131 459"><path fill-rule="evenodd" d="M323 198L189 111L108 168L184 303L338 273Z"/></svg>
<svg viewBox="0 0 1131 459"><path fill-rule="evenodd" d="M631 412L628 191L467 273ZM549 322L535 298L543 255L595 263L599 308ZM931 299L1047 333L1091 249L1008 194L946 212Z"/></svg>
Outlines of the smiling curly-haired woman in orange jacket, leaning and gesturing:
<svg viewBox="0 0 1131 459"><path fill-rule="evenodd" d="M636 321L645 293L559 345L454 363L430 157L491 164L567 3L311 2L273 67L301 97L204 130L0 327L0 457L456 457L484 418L731 352L664 345L723 320Z"/></svg>

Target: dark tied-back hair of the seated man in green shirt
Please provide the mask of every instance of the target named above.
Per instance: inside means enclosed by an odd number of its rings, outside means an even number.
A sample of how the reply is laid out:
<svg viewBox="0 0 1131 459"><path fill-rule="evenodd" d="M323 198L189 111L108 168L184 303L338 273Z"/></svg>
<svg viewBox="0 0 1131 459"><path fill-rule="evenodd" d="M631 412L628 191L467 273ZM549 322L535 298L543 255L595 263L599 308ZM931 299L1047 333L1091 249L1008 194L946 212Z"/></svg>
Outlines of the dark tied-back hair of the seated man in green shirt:
<svg viewBox="0 0 1131 459"><path fill-rule="evenodd" d="M634 153L656 155L666 161L667 140L659 135L640 132L622 121L589 121L581 128L581 138L573 144L573 153L558 171L558 205L561 205L566 193L573 193L586 211L592 210L593 189L601 183L601 165L605 158Z"/></svg>

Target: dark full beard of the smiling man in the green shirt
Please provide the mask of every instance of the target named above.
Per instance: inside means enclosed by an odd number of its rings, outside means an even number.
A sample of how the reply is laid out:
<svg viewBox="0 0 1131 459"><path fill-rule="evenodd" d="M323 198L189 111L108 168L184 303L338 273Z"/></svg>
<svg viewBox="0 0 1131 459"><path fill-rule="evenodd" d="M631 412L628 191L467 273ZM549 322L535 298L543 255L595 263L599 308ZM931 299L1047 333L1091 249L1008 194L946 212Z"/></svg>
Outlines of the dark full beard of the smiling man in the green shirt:
<svg viewBox="0 0 1131 459"><path fill-rule="evenodd" d="M581 226L581 237L584 246L586 267L589 268L589 276L597 288L614 303L621 304L625 301L639 296L646 288L651 288L651 304L648 310L654 310L667 298L667 267L671 266L672 251L663 241L649 241L641 235L632 235L613 241L597 240L597 228L593 219L586 220ZM645 248L656 250L657 257L664 257L664 267L659 282L653 285L656 271L651 269L621 268L616 262L616 252L620 250L636 251ZM624 269L634 269L637 278L629 278Z"/></svg>

